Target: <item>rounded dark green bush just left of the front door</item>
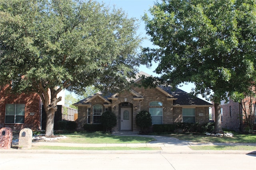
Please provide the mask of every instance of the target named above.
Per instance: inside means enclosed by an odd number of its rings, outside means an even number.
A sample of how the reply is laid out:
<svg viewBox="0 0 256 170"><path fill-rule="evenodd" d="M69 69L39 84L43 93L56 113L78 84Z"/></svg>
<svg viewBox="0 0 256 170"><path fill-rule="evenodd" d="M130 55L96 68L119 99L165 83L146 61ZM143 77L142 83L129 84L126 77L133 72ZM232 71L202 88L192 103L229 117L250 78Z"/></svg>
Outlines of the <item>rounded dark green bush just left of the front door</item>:
<svg viewBox="0 0 256 170"><path fill-rule="evenodd" d="M111 129L116 126L116 121L116 115L111 111L105 111L101 115L102 127L106 129L107 132L111 131Z"/></svg>

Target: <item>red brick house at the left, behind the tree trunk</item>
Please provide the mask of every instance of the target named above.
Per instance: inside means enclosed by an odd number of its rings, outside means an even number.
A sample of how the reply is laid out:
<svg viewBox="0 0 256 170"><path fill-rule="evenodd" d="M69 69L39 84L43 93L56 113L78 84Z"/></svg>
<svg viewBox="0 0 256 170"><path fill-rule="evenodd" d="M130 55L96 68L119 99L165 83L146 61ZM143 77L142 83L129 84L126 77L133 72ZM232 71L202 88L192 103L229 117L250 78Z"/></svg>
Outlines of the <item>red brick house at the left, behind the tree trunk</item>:
<svg viewBox="0 0 256 170"><path fill-rule="evenodd" d="M11 94L8 88L0 88L0 128L10 127L12 130L30 128L33 130L45 129L46 114L42 106L42 100L36 93ZM64 92L60 94L65 100ZM62 120L62 103L58 103L55 113L55 123Z"/></svg>

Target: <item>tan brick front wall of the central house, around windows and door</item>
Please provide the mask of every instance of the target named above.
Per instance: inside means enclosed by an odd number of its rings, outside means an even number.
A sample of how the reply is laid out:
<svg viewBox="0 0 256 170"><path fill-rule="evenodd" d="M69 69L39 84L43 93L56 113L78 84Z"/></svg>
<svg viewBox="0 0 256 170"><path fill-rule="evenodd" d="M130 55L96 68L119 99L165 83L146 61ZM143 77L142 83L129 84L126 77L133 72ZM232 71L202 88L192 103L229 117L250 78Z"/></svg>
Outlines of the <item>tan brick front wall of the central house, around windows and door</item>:
<svg viewBox="0 0 256 170"><path fill-rule="evenodd" d="M134 94L136 93L136 94ZM140 96L140 97L136 97ZM90 99L87 99L89 101ZM129 103L129 107L132 109L132 125L131 131L139 131L139 127L136 126L136 114L139 111L150 109L150 102L162 102L162 109L163 109L163 116L162 116L162 123L163 124L173 124L176 122L182 122L182 108L195 108L195 122L196 123L208 123L209 122L209 105L203 106L173 106L173 101L175 98L168 98L166 93L163 91L156 89L156 88L139 88L134 87L131 91L126 91L123 93L119 93L116 96L112 97L109 100L109 103L106 103L103 97L97 96L90 100L90 102L86 103L86 99L83 101L74 104L78 106L78 127L83 127L84 124L87 124L87 110L88 107L91 107L91 116L90 116L90 123L92 123L93 119L93 106L95 104L101 104L104 106L103 108L108 108L108 110L112 111L116 114L117 117L117 125L112 130L113 131L120 131L121 129L121 108L122 103L127 102ZM84 105L84 106L83 106Z"/></svg>

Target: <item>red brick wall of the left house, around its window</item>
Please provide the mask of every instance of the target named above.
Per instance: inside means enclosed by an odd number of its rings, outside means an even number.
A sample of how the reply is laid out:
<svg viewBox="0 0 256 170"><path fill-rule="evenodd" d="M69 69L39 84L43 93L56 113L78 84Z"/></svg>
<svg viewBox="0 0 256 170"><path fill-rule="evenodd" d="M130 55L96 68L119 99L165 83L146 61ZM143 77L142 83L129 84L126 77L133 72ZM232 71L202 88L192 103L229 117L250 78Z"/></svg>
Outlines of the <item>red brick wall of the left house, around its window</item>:
<svg viewBox="0 0 256 170"><path fill-rule="evenodd" d="M25 127L40 130L42 102L40 96L34 94L10 94L8 86L2 88L0 92L0 127L10 127L13 130L20 130ZM6 124L5 112L6 104L25 104L25 119L22 124Z"/></svg>

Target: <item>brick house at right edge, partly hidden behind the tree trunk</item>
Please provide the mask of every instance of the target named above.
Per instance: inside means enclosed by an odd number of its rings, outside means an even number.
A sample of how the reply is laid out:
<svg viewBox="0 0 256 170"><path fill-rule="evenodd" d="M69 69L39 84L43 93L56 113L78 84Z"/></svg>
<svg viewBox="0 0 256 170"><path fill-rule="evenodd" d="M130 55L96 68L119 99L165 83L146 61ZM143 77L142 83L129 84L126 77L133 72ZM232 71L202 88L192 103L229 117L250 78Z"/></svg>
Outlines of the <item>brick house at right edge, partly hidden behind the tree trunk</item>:
<svg viewBox="0 0 256 170"><path fill-rule="evenodd" d="M255 100L254 102L255 103ZM244 102L246 109L248 109L248 103ZM255 106L252 106L254 110ZM256 113L254 113L256 114ZM212 118L215 121L215 109L212 107ZM221 101L221 123L222 128L234 130L234 131L244 131L246 123L244 121L244 111L239 102L234 102L228 98L228 102ZM256 126L256 119L254 120L254 129Z"/></svg>

